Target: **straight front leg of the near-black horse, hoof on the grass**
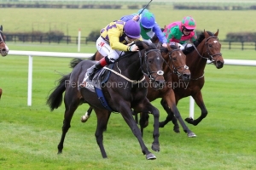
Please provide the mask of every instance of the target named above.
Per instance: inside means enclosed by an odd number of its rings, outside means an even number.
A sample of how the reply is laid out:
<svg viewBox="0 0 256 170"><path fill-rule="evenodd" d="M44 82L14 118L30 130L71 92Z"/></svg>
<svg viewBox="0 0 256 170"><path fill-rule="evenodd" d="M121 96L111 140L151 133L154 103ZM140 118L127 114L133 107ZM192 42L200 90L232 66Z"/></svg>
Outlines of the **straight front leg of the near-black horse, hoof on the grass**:
<svg viewBox="0 0 256 170"><path fill-rule="evenodd" d="M130 104L125 102L125 101L119 101L119 112L121 115L124 117L125 122L128 124L128 126L131 128L131 132L136 136L137 140L139 141L139 144L141 145L143 154L146 155L146 159L148 160L153 160L156 159L154 154L149 152L148 148L143 142L143 136L142 133L137 127L137 123L135 122L133 116L132 116L132 111L130 108Z"/></svg>

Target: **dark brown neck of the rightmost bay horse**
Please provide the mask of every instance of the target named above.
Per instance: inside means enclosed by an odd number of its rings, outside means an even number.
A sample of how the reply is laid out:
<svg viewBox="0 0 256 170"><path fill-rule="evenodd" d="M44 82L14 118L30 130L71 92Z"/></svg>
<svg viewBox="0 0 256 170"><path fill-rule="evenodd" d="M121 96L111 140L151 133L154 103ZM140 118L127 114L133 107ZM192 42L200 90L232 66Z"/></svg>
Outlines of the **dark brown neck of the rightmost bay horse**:
<svg viewBox="0 0 256 170"><path fill-rule="evenodd" d="M204 70L207 65L207 59L201 58L201 56L203 56L203 48L201 48L198 53L196 50L194 50L190 54L187 54L186 58L186 64L189 66L189 71L191 72L192 78L201 77L204 74Z"/></svg>

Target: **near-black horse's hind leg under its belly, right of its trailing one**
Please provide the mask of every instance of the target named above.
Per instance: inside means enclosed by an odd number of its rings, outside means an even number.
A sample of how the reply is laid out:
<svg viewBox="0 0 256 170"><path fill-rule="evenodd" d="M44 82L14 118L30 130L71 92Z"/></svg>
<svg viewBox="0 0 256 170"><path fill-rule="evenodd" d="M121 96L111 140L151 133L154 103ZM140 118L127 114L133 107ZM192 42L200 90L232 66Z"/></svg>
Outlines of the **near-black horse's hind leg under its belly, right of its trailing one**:
<svg viewBox="0 0 256 170"><path fill-rule="evenodd" d="M102 152L102 157L107 158L106 151L103 145L103 131L107 128L108 118L110 115L109 111L95 110L97 116L97 127L96 127L96 142Z"/></svg>

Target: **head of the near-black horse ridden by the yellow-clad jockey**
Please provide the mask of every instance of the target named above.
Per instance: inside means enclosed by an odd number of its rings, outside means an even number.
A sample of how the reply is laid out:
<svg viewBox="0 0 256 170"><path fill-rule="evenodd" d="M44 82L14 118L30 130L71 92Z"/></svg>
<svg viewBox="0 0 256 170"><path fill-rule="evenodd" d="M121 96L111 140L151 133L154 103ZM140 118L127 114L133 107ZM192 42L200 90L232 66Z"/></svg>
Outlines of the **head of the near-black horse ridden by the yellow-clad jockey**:
<svg viewBox="0 0 256 170"><path fill-rule="evenodd" d="M141 57L141 68L143 74L148 76L150 82L154 82L155 88L163 88L165 79L163 77L164 60L161 57L160 49L156 48L153 43L136 42L143 56Z"/></svg>

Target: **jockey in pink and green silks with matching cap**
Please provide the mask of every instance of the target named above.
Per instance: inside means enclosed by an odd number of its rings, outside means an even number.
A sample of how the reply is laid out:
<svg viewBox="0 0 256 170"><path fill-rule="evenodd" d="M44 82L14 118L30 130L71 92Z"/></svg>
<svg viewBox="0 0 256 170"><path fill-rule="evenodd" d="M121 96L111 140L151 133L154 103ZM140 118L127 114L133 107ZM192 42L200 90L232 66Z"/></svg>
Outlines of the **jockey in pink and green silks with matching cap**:
<svg viewBox="0 0 256 170"><path fill-rule="evenodd" d="M164 34L167 42L178 42L179 47L184 49L185 46L191 47L187 44L188 41L195 42L195 20L191 16L185 16L182 21L172 22L166 26Z"/></svg>

